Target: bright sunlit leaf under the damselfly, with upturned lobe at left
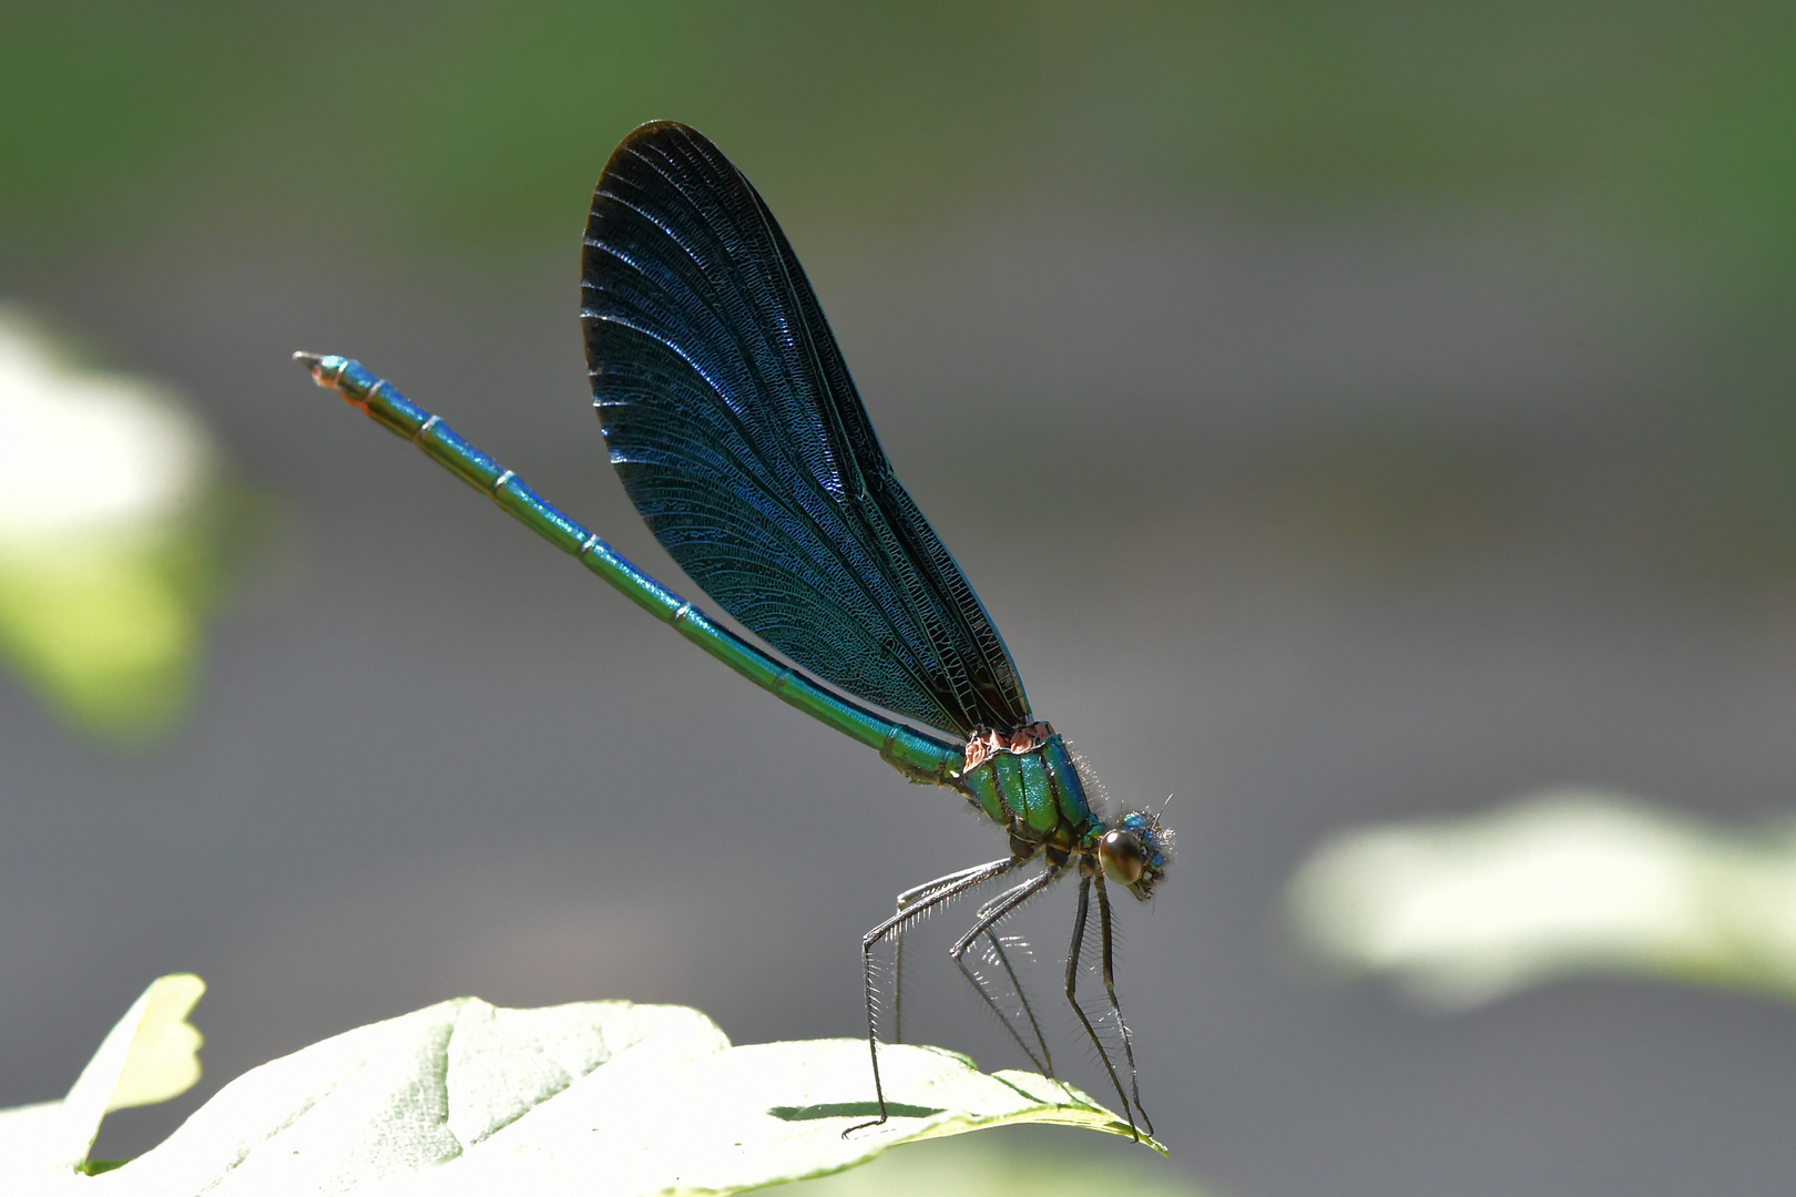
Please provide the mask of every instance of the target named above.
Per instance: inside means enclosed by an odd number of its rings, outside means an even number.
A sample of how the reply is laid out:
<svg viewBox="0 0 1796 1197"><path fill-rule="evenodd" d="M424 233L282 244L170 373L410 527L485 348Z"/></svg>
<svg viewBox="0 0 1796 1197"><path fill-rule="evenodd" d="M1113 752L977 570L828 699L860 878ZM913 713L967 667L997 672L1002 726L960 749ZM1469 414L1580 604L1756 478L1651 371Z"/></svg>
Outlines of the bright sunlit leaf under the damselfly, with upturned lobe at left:
<svg viewBox="0 0 1796 1197"><path fill-rule="evenodd" d="M145 1037L190 1044L165 1034L180 1007L172 998L198 996L190 985L181 994L153 987L68 1100L0 1113L0 1136L13 1129L56 1143L0 1154L0 1190L731 1193L981 1127L1034 1122L1128 1134L1126 1122L1045 1077L986 1075L952 1052L893 1046L880 1057L893 1118L844 1138L876 1113L860 1041L736 1048L684 1007L506 1010L458 998L255 1068L154 1150L81 1175L99 1111L115 1091L131 1091L90 1077L115 1077L117 1061L167 1064L169 1052L138 1050Z"/></svg>

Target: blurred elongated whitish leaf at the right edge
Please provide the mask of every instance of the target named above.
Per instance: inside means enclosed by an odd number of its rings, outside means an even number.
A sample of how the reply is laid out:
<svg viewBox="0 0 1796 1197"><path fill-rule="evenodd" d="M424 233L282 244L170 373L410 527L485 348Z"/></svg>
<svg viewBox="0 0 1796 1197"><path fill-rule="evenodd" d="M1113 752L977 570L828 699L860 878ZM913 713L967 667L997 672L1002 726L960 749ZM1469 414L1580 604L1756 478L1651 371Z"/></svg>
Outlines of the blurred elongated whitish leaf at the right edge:
<svg viewBox="0 0 1796 1197"><path fill-rule="evenodd" d="M1297 872L1290 910L1316 957L1435 1009L1589 973L1796 1000L1796 824L1721 831L1548 791L1347 833Z"/></svg>

